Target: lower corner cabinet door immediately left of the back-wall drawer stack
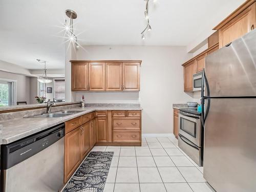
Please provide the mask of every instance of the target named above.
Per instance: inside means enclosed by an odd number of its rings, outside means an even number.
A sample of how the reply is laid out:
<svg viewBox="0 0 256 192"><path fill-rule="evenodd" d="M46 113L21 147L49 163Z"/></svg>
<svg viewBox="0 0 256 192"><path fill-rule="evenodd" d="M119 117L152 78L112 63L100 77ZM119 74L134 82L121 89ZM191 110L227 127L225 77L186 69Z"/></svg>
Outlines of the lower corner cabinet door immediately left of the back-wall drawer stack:
<svg viewBox="0 0 256 192"><path fill-rule="evenodd" d="M96 118L96 142L104 143L107 142L108 134L108 118L99 117Z"/></svg>

